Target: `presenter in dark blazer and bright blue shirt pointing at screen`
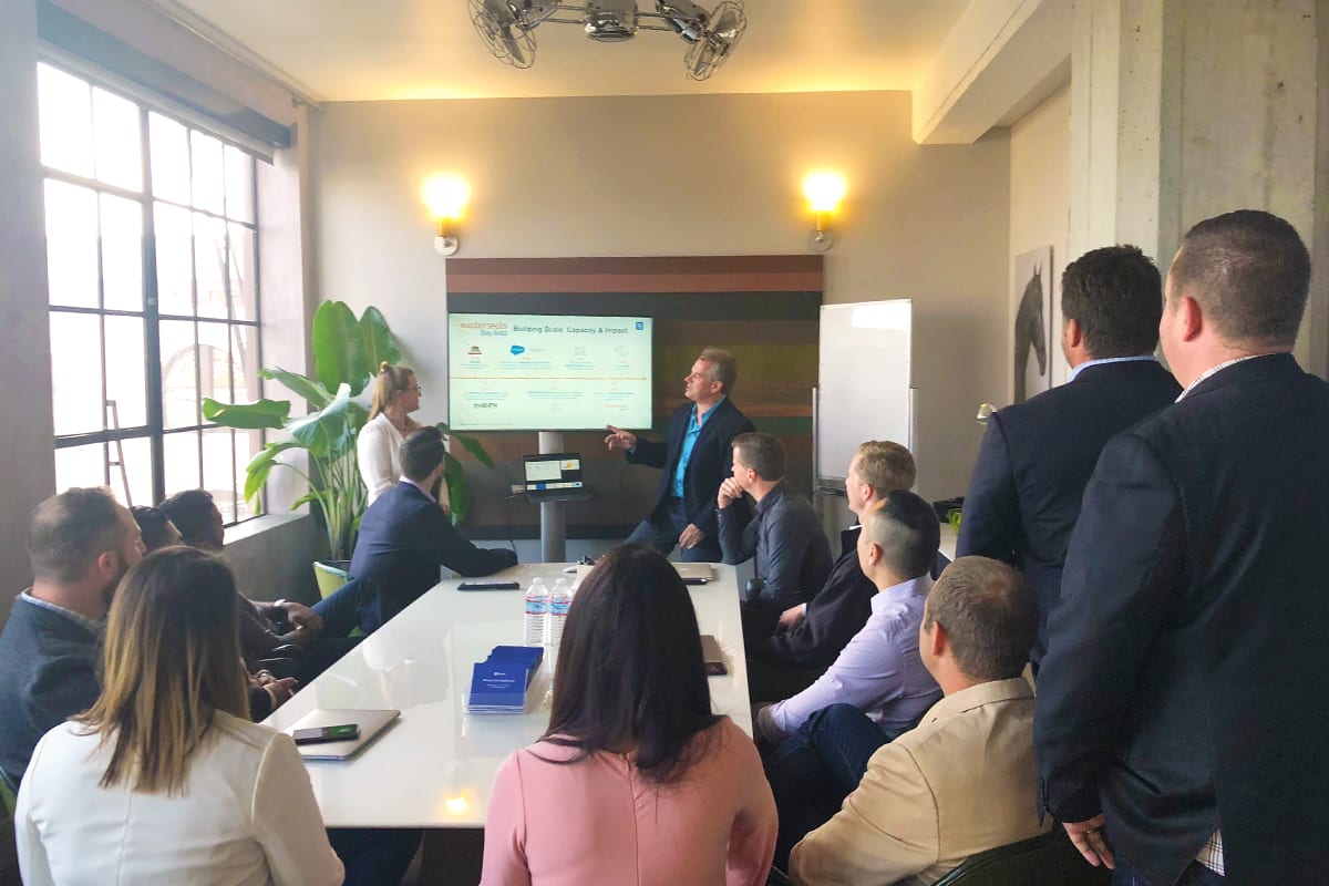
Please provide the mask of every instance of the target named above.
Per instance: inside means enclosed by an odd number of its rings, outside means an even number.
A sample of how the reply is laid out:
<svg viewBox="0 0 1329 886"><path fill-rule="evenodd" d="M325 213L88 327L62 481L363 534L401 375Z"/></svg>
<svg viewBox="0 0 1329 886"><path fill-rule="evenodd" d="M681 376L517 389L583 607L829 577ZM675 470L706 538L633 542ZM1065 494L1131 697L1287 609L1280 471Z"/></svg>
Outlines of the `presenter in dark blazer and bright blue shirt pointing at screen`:
<svg viewBox="0 0 1329 886"><path fill-rule="evenodd" d="M664 470L655 507L627 537L629 543L647 545L666 557L678 545L684 562L720 562L716 493L730 476L730 444L755 430L730 400L738 375L732 353L720 348L702 351L683 379L683 396L691 402L670 417L667 442L651 442L607 425L605 445L610 452L626 452L629 464Z"/></svg>

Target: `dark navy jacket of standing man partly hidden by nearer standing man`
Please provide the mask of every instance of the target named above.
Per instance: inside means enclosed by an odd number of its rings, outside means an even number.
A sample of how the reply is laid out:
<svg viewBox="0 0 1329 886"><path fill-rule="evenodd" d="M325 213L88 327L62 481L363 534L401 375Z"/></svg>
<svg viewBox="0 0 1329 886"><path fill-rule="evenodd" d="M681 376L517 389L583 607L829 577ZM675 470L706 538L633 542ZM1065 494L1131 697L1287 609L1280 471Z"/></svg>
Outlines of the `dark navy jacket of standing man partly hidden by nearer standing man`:
<svg viewBox="0 0 1329 886"><path fill-rule="evenodd" d="M989 420L956 554L991 557L1025 573L1038 595L1035 664L1047 648L1047 614L1057 604L1066 546L1103 444L1179 393L1176 379L1154 360L1107 363Z"/></svg>

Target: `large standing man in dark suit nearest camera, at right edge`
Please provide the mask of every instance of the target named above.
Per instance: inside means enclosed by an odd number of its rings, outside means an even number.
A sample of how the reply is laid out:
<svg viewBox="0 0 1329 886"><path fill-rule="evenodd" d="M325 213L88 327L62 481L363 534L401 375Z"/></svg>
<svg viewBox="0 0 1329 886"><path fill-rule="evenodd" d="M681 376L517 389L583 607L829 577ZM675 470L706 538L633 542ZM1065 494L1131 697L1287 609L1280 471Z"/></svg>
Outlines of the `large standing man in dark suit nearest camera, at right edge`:
<svg viewBox="0 0 1329 886"><path fill-rule="evenodd" d="M1329 385L1292 356L1309 279L1275 215L1191 228L1159 324L1185 392L1084 491L1034 736L1045 809L1118 883L1329 878Z"/></svg>

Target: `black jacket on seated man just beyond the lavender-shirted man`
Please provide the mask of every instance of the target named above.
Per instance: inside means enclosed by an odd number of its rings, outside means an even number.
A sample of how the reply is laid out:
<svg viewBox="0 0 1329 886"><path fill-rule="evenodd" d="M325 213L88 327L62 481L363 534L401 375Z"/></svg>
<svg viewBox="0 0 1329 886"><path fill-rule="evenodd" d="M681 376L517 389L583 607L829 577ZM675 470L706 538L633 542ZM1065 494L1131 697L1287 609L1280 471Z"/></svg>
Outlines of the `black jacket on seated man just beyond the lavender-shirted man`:
<svg viewBox="0 0 1329 886"><path fill-rule="evenodd" d="M792 631L780 631L754 647L752 658L771 664L825 669L863 630L872 614L877 586L859 567L860 531L855 526L840 533L840 557L821 591L808 603L803 620Z"/></svg>

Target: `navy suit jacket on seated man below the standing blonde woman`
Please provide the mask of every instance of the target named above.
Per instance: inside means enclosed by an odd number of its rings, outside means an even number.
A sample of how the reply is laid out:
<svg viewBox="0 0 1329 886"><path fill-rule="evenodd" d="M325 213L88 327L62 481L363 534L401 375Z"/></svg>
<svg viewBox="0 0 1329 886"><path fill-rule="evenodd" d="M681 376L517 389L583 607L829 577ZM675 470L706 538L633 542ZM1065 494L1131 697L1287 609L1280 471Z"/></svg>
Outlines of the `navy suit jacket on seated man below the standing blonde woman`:
<svg viewBox="0 0 1329 886"><path fill-rule="evenodd" d="M383 624L439 583L440 566L472 576L489 575L516 562L517 555L510 550L472 545L436 502L413 484L401 482L364 511L350 571L361 582L360 599L368 598L371 604L376 599L377 624ZM361 612L361 627L364 623Z"/></svg>

